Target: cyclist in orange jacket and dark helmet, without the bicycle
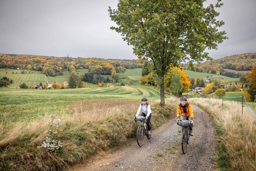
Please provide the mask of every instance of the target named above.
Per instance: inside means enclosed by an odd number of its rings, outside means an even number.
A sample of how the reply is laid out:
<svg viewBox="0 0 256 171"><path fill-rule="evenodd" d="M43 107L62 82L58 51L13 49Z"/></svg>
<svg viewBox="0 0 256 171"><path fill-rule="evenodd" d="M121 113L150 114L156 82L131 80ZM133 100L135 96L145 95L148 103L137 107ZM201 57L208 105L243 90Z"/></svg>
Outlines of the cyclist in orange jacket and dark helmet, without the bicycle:
<svg viewBox="0 0 256 171"><path fill-rule="evenodd" d="M192 109L192 105L186 102L187 101L186 97L181 97L180 101L181 101L181 103L178 104L178 106L177 106L177 122L185 119L185 120L189 120L191 122L191 124L193 125L194 112ZM184 127L182 127L182 133L183 133L183 129L184 129ZM190 135L193 136L192 126L190 126L189 129L191 130Z"/></svg>

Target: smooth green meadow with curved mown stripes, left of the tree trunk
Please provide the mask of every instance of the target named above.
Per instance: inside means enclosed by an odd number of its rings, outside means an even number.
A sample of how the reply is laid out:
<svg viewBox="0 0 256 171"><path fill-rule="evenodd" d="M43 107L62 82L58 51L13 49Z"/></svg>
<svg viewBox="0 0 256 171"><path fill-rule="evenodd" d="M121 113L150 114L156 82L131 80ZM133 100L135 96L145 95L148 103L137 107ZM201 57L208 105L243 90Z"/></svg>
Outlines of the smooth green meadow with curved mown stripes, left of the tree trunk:
<svg viewBox="0 0 256 171"><path fill-rule="evenodd" d="M40 119L45 114L67 114L66 106L90 99L158 99L159 91L147 86L91 87L81 89L0 88L0 122Z"/></svg>

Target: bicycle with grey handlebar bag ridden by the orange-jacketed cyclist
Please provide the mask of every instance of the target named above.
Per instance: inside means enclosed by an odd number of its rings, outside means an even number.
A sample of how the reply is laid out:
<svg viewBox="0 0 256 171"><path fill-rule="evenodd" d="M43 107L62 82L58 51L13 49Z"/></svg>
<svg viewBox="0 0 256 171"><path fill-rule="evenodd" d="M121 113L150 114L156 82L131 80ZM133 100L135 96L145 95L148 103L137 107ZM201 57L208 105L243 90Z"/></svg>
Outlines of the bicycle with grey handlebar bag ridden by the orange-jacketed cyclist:
<svg viewBox="0 0 256 171"><path fill-rule="evenodd" d="M177 123L179 126L184 127L183 134L181 135L181 149L183 154L186 153L187 144L189 144L190 126L193 126L189 120L181 120Z"/></svg>

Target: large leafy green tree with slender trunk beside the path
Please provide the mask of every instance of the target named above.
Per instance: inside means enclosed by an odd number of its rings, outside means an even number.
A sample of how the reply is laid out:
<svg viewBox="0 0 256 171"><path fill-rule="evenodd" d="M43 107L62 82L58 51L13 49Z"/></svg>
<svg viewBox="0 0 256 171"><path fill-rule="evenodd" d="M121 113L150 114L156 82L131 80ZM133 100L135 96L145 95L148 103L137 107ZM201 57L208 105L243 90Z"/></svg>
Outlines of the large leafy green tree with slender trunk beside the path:
<svg viewBox="0 0 256 171"><path fill-rule="evenodd" d="M117 10L109 7L109 16L124 41L133 46L139 58L150 58L160 82L161 104L164 105L164 74L172 63L202 62L211 59L208 49L217 49L226 34L218 27L216 7L221 0L204 7L205 0L119 0Z"/></svg>

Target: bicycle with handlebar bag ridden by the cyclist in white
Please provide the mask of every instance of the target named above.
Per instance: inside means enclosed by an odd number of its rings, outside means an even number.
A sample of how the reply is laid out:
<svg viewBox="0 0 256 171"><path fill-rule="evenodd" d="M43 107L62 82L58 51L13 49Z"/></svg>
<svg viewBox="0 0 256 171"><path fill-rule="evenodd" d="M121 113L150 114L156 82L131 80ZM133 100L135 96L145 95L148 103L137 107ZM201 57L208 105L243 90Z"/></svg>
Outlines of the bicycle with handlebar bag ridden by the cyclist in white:
<svg viewBox="0 0 256 171"><path fill-rule="evenodd" d="M149 139L147 122L145 120L146 120L146 117L144 117L144 116L138 116L137 119L135 120L136 122L141 121L141 124L138 126L137 135L136 135L137 143L139 146L143 145L145 135L147 135L147 139ZM152 132L151 122L149 122L149 125L150 125L151 132Z"/></svg>

